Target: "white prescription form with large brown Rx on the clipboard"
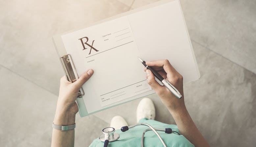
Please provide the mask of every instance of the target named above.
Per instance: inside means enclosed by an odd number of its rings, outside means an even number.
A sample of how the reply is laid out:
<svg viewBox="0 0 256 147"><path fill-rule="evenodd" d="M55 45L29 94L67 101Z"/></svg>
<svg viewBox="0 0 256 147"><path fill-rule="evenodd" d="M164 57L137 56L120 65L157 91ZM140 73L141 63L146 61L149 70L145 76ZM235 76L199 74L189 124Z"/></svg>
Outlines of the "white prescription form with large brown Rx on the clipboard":
<svg viewBox="0 0 256 147"><path fill-rule="evenodd" d="M94 74L83 86L88 112L151 90L128 18L94 25L62 36L79 75ZM102 108L101 108L102 109Z"/></svg>

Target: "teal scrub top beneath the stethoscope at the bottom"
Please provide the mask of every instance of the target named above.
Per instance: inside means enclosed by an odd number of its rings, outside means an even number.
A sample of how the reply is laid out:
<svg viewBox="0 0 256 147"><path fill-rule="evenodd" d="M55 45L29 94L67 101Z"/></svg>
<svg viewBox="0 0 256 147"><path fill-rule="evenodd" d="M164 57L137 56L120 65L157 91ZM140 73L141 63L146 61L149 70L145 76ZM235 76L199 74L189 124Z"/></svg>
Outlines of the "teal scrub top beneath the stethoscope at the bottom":
<svg viewBox="0 0 256 147"><path fill-rule="evenodd" d="M139 121L140 123L147 123L153 128L165 129L171 128L173 131L179 132L176 125L169 125L159 121L143 118ZM108 147L140 147L141 146L141 135L144 130L148 129L147 126L136 126L129 129L126 132L121 132L120 129L115 130L115 133L120 135L120 138L114 142L109 142ZM162 131L157 131L163 138L166 146L168 147L194 147L194 145L186 139L183 135L176 135L174 133L166 134ZM145 147L161 147L163 146L160 139L153 131L147 131L144 135L144 146ZM99 138L93 140L90 147L103 147L104 142L101 142Z"/></svg>

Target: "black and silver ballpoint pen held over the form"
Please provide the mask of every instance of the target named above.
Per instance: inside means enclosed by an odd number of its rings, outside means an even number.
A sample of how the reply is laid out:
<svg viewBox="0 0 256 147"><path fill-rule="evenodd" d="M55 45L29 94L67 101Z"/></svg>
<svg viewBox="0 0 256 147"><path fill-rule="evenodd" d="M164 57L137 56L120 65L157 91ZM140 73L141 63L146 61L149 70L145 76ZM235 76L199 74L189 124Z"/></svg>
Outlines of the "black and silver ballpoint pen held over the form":
<svg viewBox="0 0 256 147"><path fill-rule="evenodd" d="M139 58L139 57L138 57ZM152 67L146 65L146 62L144 60L142 60L141 58L139 58L139 60L141 61L141 63L149 70L152 71L152 73L154 74L154 76L161 81L164 86L166 86L166 88L168 88L172 94L174 94L178 99L180 99L182 97L182 95L180 94L180 92L173 86L170 84L170 82L168 82L166 79L164 79L157 71L155 71Z"/></svg>

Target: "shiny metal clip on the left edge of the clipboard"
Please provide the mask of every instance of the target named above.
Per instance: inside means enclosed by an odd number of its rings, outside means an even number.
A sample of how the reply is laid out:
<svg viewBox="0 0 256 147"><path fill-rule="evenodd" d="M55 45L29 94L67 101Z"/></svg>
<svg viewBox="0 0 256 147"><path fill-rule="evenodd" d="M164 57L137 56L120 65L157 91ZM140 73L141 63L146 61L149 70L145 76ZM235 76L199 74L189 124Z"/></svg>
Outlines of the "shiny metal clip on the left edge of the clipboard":
<svg viewBox="0 0 256 147"><path fill-rule="evenodd" d="M72 83L75 82L79 77L76 72L76 68L70 54L64 54L63 56L61 56L61 62L65 71L67 80ZM85 95L84 89L83 87L81 87L77 97L81 98L84 95Z"/></svg>

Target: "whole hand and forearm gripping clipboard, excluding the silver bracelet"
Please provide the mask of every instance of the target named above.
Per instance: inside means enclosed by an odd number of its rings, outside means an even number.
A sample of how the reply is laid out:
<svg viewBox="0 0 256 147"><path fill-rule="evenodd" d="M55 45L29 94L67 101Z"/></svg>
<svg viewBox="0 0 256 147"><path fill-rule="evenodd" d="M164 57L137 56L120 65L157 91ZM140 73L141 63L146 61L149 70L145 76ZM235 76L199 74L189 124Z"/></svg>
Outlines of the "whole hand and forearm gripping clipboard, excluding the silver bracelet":
<svg viewBox="0 0 256 147"><path fill-rule="evenodd" d="M61 78L60 93L54 117L55 125L69 126L75 124L75 117L78 112L78 106L75 101L78 91L92 74L93 70L89 69L74 83L67 81L65 76ZM73 147L74 142L74 129L66 131L53 129L51 147Z"/></svg>

